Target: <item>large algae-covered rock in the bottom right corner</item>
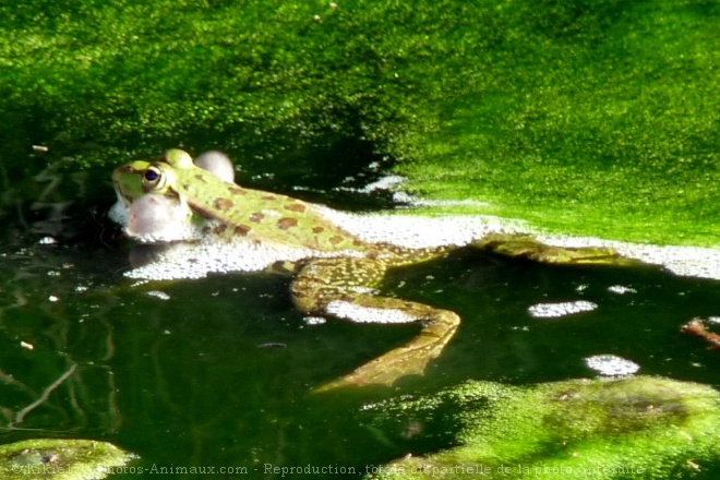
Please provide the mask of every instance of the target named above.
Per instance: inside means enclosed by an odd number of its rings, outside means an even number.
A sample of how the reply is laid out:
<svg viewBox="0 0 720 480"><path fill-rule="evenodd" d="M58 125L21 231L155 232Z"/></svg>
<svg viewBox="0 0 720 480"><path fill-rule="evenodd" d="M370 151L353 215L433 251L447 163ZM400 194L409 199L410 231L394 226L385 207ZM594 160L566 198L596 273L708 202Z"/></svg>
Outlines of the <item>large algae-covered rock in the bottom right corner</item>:
<svg viewBox="0 0 720 480"><path fill-rule="evenodd" d="M470 382L370 410L383 412L377 420L383 431L388 424L432 423L433 431L449 425L447 442L458 445L406 455L375 468L368 477L373 479L689 478L719 457L720 395L668 379L531 387Z"/></svg>

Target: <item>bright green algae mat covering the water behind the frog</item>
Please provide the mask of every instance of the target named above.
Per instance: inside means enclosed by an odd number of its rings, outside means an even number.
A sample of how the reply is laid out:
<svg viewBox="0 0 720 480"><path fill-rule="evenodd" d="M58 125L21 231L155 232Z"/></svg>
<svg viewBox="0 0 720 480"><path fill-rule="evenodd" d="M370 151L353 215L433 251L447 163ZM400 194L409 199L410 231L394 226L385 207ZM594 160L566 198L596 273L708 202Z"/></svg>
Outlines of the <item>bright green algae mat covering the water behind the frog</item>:
<svg viewBox="0 0 720 480"><path fill-rule="evenodd" d="M713 245L719 15L704 0L0 5L3 156L50 147L3 175L183 145L328 169L307 158L359 140L413 193L490 202L476 213Z"/></svg>

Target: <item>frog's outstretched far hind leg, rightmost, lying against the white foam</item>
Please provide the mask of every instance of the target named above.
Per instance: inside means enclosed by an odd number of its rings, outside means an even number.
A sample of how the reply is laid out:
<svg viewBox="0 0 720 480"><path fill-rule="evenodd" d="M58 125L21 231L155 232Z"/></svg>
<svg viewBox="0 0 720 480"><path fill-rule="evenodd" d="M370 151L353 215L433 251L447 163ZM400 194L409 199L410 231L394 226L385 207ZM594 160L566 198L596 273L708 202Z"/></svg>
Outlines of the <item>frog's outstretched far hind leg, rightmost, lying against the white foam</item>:
<svg viewBox="0 0 720 480"><path fill-rule="evenodd" d="M471 247L540 263L567 265L637 264L637 261L620 255L615 249L610 247L552 247L523 235L490 233L472 242Z"/></svg>

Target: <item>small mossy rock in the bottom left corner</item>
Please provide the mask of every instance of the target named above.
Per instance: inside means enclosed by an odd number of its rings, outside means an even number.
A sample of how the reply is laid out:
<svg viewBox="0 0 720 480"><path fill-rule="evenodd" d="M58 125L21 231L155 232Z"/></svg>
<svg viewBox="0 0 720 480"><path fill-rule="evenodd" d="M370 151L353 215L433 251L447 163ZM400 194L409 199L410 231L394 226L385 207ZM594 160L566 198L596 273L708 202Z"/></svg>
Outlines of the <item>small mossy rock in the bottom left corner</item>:
<svg viewBox="0 0 720 480"><path fill-rule="evenodd" d="M135 458L107 442L34 439L0 445L3 480L103 479Z"/></svg>

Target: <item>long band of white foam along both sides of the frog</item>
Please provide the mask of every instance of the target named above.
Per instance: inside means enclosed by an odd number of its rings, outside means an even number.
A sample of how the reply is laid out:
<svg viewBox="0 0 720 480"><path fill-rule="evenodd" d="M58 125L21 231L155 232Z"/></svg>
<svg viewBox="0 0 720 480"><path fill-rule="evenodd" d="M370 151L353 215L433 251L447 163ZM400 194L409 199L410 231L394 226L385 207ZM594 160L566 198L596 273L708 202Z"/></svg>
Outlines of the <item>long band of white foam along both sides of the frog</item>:
<svg viewBox="0 0 720 480"><path fill-rule="evenodd" d="M621 255L658 265L675 275L720 279L720 249L697 247L648 245L591 237L553 236L533 232L521 220L488 215L427 217L398 214L352 214L322 205L315 211L344 230L368 243L391 243L410 249L440 245L463 247L489 233L527 233L554 247L611 247ZM360 252L317 252L302 247L219 242L213 238L188 243L175 253L157 259L165 266L149 265L132 271L132 278L199 278L208 273L262 271L277 261L297 261L309 256L361 256ZM170 263L185 265L168 265ZM190 264L192 263L192 265ZM620 287L610 291L620 292ZM631 292L629 287L622 287Z"/></svg>

